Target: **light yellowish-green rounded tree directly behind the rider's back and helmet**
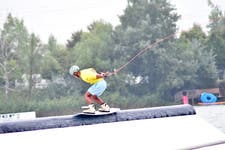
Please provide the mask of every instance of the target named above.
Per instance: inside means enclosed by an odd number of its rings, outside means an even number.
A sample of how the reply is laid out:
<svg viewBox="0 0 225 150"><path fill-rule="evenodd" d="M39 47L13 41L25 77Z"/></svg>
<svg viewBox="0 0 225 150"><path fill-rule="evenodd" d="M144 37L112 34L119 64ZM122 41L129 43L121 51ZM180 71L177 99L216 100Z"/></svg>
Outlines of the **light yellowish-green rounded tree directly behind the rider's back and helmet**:
<svg viewBox="0 0 225 150"><path fill-rule="evenodd" d="M111 68L113 50L112 25L103 20L96 21L89 32L83 32L81 40L72 53L74 63L83 67L94 67L99 70Z"/></svg>

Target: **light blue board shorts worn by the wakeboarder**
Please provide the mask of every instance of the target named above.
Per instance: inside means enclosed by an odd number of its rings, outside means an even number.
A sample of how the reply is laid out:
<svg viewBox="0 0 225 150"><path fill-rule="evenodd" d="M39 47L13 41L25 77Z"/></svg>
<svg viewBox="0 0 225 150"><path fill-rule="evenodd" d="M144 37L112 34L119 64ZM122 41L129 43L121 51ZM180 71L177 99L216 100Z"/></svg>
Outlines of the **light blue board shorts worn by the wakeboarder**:
<svg viewBox="0 0 225 150"><path fill-rule="evenodd" d="M88 92L91 93L91 95L100 96L106 90L106 87L107 87L106 81L105 80L101 80L101 81L93 84L88 89Z"/></svg>

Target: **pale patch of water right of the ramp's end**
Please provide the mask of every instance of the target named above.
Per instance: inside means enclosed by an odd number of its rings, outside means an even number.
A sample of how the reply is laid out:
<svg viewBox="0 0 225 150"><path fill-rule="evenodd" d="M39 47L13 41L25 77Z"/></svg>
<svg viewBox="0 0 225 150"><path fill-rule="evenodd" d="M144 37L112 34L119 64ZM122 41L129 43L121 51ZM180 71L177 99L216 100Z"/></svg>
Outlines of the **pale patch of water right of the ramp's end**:
<svg viewBox="0 0 225 150"><path fill-rule="evenodd" d="M194 106L197 115L225 133L225 105Z"/></svg>

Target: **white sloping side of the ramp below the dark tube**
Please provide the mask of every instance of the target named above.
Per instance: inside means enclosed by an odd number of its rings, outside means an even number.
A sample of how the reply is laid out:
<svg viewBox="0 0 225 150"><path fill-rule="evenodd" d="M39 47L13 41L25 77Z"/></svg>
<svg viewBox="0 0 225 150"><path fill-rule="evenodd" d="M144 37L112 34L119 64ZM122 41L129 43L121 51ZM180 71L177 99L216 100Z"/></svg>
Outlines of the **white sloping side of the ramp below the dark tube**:
<svg viewBox="0 0 225 150"><path fill-rule="evenodd" d="M225 149L225 134L198 115L0 134L0 141L7 150Z"/></svg>

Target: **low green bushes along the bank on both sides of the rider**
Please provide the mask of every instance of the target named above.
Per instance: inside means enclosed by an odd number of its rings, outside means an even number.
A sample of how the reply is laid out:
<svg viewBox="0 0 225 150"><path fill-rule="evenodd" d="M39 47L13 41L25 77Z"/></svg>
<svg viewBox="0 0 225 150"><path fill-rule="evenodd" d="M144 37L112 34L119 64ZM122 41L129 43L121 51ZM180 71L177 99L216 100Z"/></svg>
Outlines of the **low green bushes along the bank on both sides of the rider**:
<svg viewBox="0 0 225 150"><path fill-rule="evenodd" d="M24 92L23 92L24 93ZM134 109L143 107L155 107L171 105L172 102L160 100L158 96L145 95L138 97L135 95L121 96L119 92L110 93L106 91L101 98L111 107L121 109ZM27 99L26 94L10 93L10 98L0 99L0 113L17 113L35 111L37 117L71 115L81 112L81 106L86 105L83 95L64 96L54 99Z"/></svg>

